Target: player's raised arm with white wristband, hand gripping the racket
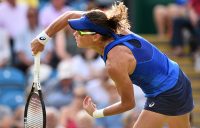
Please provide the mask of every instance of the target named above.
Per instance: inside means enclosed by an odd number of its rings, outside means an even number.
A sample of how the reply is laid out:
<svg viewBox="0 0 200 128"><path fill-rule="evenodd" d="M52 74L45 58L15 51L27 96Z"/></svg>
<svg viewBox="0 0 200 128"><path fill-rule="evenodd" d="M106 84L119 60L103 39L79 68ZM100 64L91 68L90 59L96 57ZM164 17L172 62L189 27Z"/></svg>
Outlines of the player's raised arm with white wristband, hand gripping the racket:
<svg viewBox="0 0 200 128"><path fill-rule="evenodd" d="M33 54L37 54L40 51L43 51L45 43L48 42L48 39L54 36L58 31L64 29L68 25L69 19L75 19L81 17L85 12L83 11L68 11L55 19L42 33L40 33L33 41L31 42L31 48Z"/></svg>

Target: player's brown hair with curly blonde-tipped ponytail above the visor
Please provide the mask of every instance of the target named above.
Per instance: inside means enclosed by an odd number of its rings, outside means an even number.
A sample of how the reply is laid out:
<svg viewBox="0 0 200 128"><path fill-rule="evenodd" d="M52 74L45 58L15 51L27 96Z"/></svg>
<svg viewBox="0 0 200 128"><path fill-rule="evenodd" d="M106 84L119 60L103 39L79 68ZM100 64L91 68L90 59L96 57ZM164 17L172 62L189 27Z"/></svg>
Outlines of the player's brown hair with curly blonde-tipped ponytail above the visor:
<svg viewBox="0 0 200 128"><path fill-rule="evenodd" d="M115 33L130 29L128 21L128 8L123 2L115 3L110 9L103 12L101 10L91 10L86 16L95 24L110 29Z"/></svg>

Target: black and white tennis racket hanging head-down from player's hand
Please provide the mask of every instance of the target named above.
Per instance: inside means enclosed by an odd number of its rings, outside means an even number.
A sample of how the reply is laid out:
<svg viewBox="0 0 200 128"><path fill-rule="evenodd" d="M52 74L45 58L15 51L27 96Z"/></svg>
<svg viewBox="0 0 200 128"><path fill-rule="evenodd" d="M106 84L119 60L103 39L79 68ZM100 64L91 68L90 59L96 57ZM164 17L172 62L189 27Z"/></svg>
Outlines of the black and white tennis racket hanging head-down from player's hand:
<svg viewBox="0 0 200 128"><path fill-rule="evenodd" d="M25 128L46 128L46 110L40 86L40 53L34 56L34 80L24 111Z"/></svg>

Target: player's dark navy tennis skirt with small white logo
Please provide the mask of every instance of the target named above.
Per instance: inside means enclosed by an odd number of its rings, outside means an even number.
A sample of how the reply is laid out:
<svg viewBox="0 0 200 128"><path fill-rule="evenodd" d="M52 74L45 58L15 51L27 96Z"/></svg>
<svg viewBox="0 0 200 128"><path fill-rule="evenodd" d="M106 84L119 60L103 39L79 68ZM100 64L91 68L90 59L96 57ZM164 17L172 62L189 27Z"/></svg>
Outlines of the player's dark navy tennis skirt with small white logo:
<svg viewBox="0 0 200 128"><path fill-rule="evenodd" d="M145 110L156 113L178 116L189 113L194 108L190 80L180 70L176 85L156 97L148 97L144 106Z"/></svg>

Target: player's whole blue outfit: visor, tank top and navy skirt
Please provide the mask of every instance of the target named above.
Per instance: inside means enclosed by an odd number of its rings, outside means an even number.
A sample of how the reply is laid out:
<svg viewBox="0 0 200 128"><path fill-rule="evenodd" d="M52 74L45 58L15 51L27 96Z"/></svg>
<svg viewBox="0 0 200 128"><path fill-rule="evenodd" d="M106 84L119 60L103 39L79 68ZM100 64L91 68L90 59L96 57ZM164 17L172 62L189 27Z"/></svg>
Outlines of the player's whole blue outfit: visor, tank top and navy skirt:
<svg viewBox="0 0 200 128"><path fill-rule="evenodd" d="M103 60L117 46L128 47L136 59L136 68L129 76L139 86L147 101L144 109L164 115L177 116L191 112L194 108L191 83L179 65L170 60L154 45L133 33L116 35L111 30L92 23L87 16L68 21L75 30L89 30L114 38L104 49Z"/></svg>

